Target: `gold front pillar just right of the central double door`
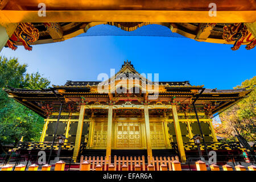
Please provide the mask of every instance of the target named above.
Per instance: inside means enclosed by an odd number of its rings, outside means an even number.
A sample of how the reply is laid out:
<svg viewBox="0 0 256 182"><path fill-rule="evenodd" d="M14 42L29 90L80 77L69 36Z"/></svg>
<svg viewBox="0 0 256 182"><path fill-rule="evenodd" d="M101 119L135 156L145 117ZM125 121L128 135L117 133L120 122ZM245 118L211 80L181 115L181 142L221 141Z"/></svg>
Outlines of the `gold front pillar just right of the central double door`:
<svg viewBox="0 0 256 182"><path fill-rule="evenodd" d="M149 123L149 114L148 114L148 106L144 106L144 119L145 119L145 129L146 129L146 140L147 140L147 155L152 159L152 147L151 147L151 139L150 139L150 123Z"/></svg>

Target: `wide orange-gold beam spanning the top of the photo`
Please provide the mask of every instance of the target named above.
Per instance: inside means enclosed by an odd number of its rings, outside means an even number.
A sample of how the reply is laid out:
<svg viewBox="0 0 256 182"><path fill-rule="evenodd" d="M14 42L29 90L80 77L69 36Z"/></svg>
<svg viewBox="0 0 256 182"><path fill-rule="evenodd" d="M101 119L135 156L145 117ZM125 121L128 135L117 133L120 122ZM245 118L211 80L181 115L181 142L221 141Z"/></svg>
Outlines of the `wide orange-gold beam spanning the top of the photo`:
<svg viewBox="0 0 256 182"><path fill-rule="evenodd" d="M47 11L38 16L38 11L1 10L3 23L44 22L173 22L173 23L253 23L256 11L158 11L158 10L92 10L92 11Z"/></svg>

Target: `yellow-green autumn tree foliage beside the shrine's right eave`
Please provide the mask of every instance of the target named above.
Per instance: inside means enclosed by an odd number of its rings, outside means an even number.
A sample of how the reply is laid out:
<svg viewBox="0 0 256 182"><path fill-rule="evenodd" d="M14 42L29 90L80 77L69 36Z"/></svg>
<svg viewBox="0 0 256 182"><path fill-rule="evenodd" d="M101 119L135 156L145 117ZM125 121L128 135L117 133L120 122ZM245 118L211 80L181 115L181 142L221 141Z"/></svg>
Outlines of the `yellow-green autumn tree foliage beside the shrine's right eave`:
<svg viewBox="0 0 256 182"><path fill-rule="evenodd" d="M234 139L234 135L242 135L248 141L256 140L256 76L245 80L234 89L246 88L252 90L248 97L230 107L220 114L221 125L216 127L217 134L228 140Z"/></svg>

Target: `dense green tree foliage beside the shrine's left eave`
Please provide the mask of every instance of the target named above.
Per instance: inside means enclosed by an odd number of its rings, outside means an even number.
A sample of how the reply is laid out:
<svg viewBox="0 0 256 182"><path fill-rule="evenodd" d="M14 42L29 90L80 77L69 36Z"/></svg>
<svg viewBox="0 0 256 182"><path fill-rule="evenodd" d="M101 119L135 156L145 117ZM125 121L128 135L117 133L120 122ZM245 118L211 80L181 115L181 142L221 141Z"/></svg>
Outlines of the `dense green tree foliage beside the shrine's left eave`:
<svg viewBox="0 0 256 182"><path fill-rule="evenodd" d="M49 80L38 72L26 73L26 64L19 64L18 59L6 59L0 56L0 144L38 141L43 129L43 118L9 98L3 88L41 89L47 88Z"/></svg>

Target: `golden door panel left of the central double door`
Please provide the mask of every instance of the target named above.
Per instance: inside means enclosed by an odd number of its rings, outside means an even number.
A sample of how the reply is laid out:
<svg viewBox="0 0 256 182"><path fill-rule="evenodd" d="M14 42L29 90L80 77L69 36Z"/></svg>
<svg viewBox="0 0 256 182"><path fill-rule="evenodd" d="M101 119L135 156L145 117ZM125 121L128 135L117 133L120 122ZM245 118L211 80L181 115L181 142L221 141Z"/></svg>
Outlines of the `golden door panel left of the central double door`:
<svg viewBox="0 0 256 182"><path fill-rule="evenodd" d="M108 133L108 123L96 122L93 132L93 148L106 148L106 136Z"/></svg>

